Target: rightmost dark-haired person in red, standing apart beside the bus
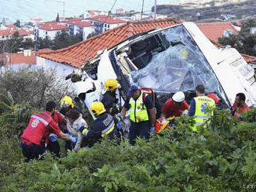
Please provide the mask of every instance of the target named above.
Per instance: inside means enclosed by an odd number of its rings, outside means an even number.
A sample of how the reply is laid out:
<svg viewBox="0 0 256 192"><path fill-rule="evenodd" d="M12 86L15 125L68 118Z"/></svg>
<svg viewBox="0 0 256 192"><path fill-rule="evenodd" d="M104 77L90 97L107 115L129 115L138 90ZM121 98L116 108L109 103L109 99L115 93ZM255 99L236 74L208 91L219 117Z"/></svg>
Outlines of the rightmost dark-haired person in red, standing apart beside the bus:
<svg viewBox="0 0 256 192"><path fill-rule="evenodd" d="M248 111L250 108L245 103L245 94L244 93L238 93L236 95L233 107L231 109L231 114L235 118L242 118L240 114L242 114L244 111Z"/></svg>

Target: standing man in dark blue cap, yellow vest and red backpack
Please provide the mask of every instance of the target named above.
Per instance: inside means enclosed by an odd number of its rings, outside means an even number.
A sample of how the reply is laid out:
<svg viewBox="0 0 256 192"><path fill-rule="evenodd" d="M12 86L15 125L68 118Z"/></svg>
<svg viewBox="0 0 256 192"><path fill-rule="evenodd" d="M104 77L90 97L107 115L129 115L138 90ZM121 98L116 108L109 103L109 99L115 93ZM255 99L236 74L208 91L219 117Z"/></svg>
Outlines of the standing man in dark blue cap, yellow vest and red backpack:
<svg viewBox="0 0 256 192"><path fill-rule="evenodd" d="M132 145L135 144L137 136L141 139L149 139L150 131L154 132L156 114L153 101L148 94L145 95L144 100L143 94L145 93L140 91L137 86L130 86L125 104L120 113L124 118L126 111L130 109L129 141Z"/></svg>

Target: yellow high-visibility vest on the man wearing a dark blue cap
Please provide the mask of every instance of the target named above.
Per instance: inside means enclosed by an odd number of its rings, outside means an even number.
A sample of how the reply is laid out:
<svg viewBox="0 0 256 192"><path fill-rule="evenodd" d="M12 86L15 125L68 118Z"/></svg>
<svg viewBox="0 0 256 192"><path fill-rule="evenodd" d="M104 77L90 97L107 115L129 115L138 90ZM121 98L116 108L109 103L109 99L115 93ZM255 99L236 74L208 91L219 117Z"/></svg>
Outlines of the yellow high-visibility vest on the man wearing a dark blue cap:
<svg viewBox="0 0 256 192"><path fill-rule="evenodd" d="M140 96L136 101L133 98L130 98L130 120L133 122L145 122L149 120L147 108L143 102L143 94L144 91L140 91ZM146 97L147 94L145 95L145 98Z"/></svg>

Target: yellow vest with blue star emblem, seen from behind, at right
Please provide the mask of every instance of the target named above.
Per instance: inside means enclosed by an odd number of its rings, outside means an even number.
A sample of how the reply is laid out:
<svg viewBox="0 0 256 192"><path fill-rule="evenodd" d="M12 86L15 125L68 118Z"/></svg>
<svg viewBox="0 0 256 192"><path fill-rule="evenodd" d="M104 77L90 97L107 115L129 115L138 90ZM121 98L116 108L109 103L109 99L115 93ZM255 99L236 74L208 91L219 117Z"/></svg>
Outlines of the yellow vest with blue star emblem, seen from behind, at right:
<svg viewBox="0 0 256 192"><path fill-rule="evenodd" d="M212 98L208 98L204 96L198 96L195 99L195 125L192 127L193 131L197 131L197 127L199 125L205 124L206 120L213 115L213 111L211 114L206 110L206 108L213 108L215 107L215 102Z"/></svg>

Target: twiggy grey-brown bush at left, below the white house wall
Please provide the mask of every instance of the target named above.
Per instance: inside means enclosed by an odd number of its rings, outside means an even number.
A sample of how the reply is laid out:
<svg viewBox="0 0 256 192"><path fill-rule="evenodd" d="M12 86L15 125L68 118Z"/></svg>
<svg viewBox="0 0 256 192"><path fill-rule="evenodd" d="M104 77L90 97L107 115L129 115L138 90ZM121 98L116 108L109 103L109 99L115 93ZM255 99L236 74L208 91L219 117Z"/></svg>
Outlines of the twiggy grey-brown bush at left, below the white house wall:
<svg viewBox="0 0 256 192"><path fill-rule="evenodd" d="M0 73L0 94L9 91L15 103L28 103L34 108L43 109L47 101L61 101L65 94L73 96L71 84L56 75L56 69L19 70L5 69Z"/></svg>

